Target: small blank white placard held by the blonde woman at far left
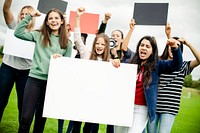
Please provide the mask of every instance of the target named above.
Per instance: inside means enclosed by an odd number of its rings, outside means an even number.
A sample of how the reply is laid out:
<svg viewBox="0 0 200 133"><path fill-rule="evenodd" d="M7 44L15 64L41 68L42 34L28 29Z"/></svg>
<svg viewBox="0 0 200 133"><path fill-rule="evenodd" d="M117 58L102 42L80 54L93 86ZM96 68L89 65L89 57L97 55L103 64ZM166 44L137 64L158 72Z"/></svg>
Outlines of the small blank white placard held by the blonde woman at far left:
<svg viewBox="0 0 200 133"><path fill-rule="evenodd" d="M3 49L4 54L32 60L34 48L35 43L18 39L14 36L14 30L7 29Z"/></svg>

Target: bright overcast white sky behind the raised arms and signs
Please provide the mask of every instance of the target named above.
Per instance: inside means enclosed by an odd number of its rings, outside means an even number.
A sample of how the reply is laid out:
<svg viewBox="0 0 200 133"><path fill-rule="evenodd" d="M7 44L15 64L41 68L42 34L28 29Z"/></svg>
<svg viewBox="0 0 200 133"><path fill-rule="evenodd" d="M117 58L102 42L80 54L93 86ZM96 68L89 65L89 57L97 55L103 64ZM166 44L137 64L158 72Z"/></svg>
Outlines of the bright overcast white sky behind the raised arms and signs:
<svg viewBox="0 0 200 133"><path fill-rule="evenodd" d="M129 22L133 16L133 5L134 2L151 2L151 3L169 3L168 9L168 22L170 22L172 27L172 36L184 37L189 42L193 44L193 46L200 51L199 45L199 37L200 37L200 1L199 0L109 0L109 1L102 1L102 0L65 0L68 2L67 7L67 15L69 16L70 11L75 11L78 7L85 7L87 13L95 13L100 14L99 24L101 20L104 18L104 14L109 12L112 14L111 19L108 22L106 33L108 35L115 29L120 29L123 31L124 35L127 34L129 30ZM3 18L2 7L3 7L4 0L0 1L1 10L0 13L2 14L0 17L0 45L3 45L5 33L6 33L6 25ZM32 5L33 7L37 8L38 0L13 0L11 10L17 16L17 13L24 5ZM42 22L42 21L41 21ZM38 25L41 24L38 21ZM131 41L129 43L129 47L132 50L135 50L136 44L140 38L144 35L151 35L155 36L159 54L162 53L165 42L166 36L164 32L164 26L138 26L136 25L135 30L132 34ZM73 36L72 36L73 37ZM73 38L71 38L73 40ZM87 45L90 46L94 39L93 35L89 35L87 40ZM193 60L195 57L193 56L192 52L187 48L184 47L183 53L184 60ZM192 72L193 79L197 80L200 79L200 66L195 68Z"/></svg>

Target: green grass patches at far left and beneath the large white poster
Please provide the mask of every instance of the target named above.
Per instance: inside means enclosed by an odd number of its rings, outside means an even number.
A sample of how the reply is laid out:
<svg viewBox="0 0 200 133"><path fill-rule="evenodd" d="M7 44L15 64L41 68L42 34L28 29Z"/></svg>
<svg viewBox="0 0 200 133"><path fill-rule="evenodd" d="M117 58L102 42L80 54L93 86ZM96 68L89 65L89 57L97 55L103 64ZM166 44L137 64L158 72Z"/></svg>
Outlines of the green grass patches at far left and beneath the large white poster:
<svg viewBox="0 0 200 133"><path fill-rule="evenodd" d="M18 130L18 118L17 118L17 98L16 98L16 91L15 89L12 90L10 99L8 102L8 105L4 111L4 115L2 118L2 121L0 123L0 133L17 133ZM65 120L64 126L63 126L63 132L66 132L67 126L69 121ZM83 124L82 124L83 125ZM99 127L99 133L104 133L106 126L100 125ZM33 123L31 126L31 132L33 129ZM58 120L57 119L51 119L48 118L44 133L57 133L58 131Z"/></svg>

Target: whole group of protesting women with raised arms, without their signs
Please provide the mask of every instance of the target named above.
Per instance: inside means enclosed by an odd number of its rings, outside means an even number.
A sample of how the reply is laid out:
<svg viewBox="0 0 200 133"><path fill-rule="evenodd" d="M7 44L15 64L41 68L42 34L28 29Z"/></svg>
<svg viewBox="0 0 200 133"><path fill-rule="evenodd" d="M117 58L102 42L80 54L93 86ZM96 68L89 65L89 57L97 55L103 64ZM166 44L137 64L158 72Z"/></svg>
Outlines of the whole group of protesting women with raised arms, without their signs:
<svg viewBox="0 0 200 133"><path fill-rule="evenodd" d="M46 122L46 118L42 117L42 112L50 58L51 56L53 58L71 57L72 42L69 40L69 30L66 30L67 24L60 10L51 9L46 14L40 29L33 30L34 19L40 16L40 12L31 6L25 6L20 11L18 23L10 10L11 3L12 0L4 2L5 22L9 28L15 29L14 35L17 38L35 42L35 51L32 61L4 55L0 68L0 120L13 85L16 83L19 111L18 132L28 133L35 116L33 132L42 133ZM142 37L136 46L136 51L132 52L128 44L135 27L133 19L125 38L120 30L112 32L111 36L116 42L115 48L110 48L108 35L99 33L94 38L92 49L88 50L80 33L80 17L84 12L83 7L77 9L74 29L74 42L80 58L111 62L116 68L120 67L120 62L138 65L133 125L131 127L108 125L107 133L141 133L145 128L148 133L170 132L180 106L183 79L199 65L199 52L187 40L172 38L169 25L166 26L168 40L161 57L158 56L156 39L152 36ZM195 60L183 62L181 53L183 44L191 49L196 57ZM178 89L175 89L177 86ZM176 98L172 98L172 94ZM176 104L176 107L172 103ZM80 132L80 124L81 122L73 123L72 133ZM92 128L94 125L97 127L95 131ZM85 123L83 132L98 132L98 124Z"/></svg>

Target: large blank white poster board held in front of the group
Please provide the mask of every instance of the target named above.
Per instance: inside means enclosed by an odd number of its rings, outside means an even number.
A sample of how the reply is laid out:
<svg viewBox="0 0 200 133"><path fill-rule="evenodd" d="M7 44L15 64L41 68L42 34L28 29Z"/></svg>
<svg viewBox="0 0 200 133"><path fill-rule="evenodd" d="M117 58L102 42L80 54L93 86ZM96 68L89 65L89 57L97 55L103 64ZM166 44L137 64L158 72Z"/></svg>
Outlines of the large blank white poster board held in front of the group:
<svg viewBox="0 0 200 133"><path fill-rule="evenodd" d="M131 126L137 65L51 59L43 116Z"/></svg>

